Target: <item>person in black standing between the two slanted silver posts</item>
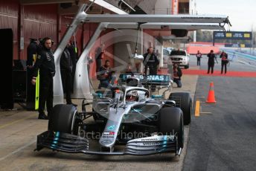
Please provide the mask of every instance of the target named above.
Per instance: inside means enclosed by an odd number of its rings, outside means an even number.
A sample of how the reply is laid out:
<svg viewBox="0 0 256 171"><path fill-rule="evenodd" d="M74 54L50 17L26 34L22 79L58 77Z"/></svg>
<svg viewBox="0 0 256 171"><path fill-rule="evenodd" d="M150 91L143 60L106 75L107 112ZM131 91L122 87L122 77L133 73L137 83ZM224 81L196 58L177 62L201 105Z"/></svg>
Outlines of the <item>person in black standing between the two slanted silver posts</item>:
<svg viewBox="0 0 256 171"><path fill-rule="evenodd" d="M70 53L68 51L69 46L70 46L70 44L68 44L65 47L63 54L60 57L60 74L61 74L61 80L63 83L63 91L65 93L66 103L77 106L76 104L72 103L72 101L71 101L71 88L72 88L71 74L72 74L73 65L72 65Z"/></svg>

